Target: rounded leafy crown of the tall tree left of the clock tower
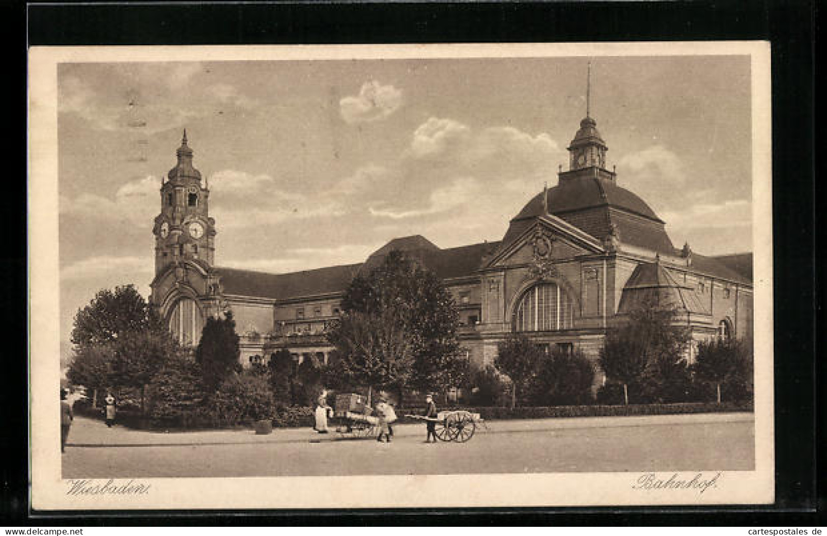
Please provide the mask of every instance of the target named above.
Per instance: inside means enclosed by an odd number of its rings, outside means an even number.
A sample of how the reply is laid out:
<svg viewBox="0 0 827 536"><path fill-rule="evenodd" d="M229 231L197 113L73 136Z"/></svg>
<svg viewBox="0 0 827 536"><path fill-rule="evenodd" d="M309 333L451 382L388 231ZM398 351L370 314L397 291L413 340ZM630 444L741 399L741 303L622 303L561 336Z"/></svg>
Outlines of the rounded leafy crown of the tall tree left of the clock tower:
<svg viewBox="0 0 827 536"><path fill-rule="evenodd" d="M99 290L74 316L71 341L76 349L114 342L127 332L160 331L163 324L155 309L134 285Z"/></svg>

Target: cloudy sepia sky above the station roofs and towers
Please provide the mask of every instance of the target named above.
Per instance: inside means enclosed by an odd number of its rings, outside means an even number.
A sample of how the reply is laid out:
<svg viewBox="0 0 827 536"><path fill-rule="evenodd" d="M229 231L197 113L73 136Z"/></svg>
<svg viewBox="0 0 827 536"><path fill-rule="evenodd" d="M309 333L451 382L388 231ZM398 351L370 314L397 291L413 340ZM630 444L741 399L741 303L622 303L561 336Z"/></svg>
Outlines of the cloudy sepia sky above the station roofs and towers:
<svg viewBox="0 0 827 536"><path fill-rule="evenodd" d="M95 292L148 297L160 181L187 129L218 266L361 262L394 237L500 240L568 168L586 58L58 66L61 352ZM617 184L675 246L752 251L748 56L590 58Z"/></svg>

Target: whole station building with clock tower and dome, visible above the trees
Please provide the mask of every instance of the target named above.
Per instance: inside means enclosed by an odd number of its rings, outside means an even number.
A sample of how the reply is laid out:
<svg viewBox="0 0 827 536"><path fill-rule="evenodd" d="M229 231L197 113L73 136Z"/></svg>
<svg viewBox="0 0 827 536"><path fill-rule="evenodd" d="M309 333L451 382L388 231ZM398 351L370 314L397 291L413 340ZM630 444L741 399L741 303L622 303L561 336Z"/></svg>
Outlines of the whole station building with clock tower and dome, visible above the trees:
<svg viewBox="0 0 827 536"><path fill-rule="evenodd" d="M676 305L697 340L752 337L753 285L744 273L751 255L709 257L673 247L664 222L604 169L607 147L594 119L581 122L569 151L570 170L529 200L501 242L440 249L421 236L403 237L365 263L265 274L214 266L209 190L184 133L178 165L160 189L151 303L190 344L198 342L203 318L232 310L245 366L265 363L280 348L297 361L326 361L332 348L325 323L340 312L348 283L395 249L447 285L476 366L492 364L497 343L514 331L596 359L606 330L626 318L624 308L652 293Z"/></svg>

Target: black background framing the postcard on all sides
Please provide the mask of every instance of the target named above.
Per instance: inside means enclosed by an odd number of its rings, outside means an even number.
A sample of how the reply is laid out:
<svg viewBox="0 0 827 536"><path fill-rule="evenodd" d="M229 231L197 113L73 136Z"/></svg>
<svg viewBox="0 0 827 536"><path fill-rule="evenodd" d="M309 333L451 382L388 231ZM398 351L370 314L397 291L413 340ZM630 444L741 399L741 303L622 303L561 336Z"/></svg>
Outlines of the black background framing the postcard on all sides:
<svg viewBox="0 0 827 536"><path fill-rule="evenodd" d="M819 524L816 490L815 239L824 189L814 181L817 2L479 2L348 4L3 4L4 99L22 127L5 146L18 172L4 177L0 256L4 381L0 524ZM31 512L28 504L26 356L26 46L237 45L409 42L765 40L772 43L777 504L672 509L512 509L338 512ZM8 68L12 69L8 69ZM16 68L16 69L15 69ZM8 121L6 122L8 124ZM8 132L7 127L7 132ZM823 139L823 137L821 137ZM14 141L17 141L15 144ZM4 151L5 152L5 151ZM722 178L725 179L725 178ZM31 223L36 225L36 222ZM818 231L816 231L818 230ZM34 252L36 254L36 252ZM822 303L820 300L819 304ZM19 306L19 309L15 307ZM821 439L821 438L819 438ZM820 441L822 447L823 441ZM822 448L823 450L823 448ZM819 485L820 486L820 485ZM90 517L90 515L92 517ZM165 519L159 519L163 515ZM261 515L270 516L262 519ZM67 519L69 518L69 519ZM74 519L71 519L74 518ZM438 527L430 530L441 530Z"/></svg>

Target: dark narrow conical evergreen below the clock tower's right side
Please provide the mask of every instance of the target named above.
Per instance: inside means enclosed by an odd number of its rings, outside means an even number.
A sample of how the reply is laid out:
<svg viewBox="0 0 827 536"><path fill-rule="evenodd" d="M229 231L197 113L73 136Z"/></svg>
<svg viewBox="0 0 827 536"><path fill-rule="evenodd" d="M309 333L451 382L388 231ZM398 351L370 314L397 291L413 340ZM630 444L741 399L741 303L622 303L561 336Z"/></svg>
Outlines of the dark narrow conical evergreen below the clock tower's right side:
<svg viewBox="0 0 827 536"><path fill-rule="evenodd" d="M207 318L195 350L195 361L201 366L204 386L208 390L217 390L230 376L239 364L240 354L232 311L227 311L224 318Z"/></svg>

